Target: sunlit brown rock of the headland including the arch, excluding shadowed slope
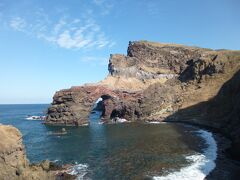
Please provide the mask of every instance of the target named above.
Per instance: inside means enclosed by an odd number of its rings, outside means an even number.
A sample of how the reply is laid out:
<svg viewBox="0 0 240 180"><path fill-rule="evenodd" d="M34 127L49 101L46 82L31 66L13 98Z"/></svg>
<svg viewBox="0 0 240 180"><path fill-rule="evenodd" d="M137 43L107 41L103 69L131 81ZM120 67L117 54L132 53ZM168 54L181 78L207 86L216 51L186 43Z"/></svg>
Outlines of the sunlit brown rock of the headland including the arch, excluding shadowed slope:
<svg viewBox="0 0 240 180"><path fill-rule="evenodd" d="M106 121L114 117L164 120L208 101L239 70L239 51L130 42L127 56L111 55L103 81L58 91L46 124L85 125L98 98Z"/></svg>

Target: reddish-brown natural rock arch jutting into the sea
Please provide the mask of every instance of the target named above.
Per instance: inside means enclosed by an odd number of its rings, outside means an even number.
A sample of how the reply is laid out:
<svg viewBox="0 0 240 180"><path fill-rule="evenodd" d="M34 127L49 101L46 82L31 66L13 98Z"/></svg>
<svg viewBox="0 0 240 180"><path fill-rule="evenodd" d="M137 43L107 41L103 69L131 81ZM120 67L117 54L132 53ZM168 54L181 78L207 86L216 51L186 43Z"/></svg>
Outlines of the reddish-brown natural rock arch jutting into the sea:
<svg viewBox="0 0 240 180"><path fill-rule="evenodd" d="M103 99L102 117L104 119L111 119L114 109L115 111L128 111L124 113L127 116L125 118L131 117L132 119L137 111L137 106L133 104L139 96L139 93L112 90L101 85L85 85L61 90L54 95L45 123L73 126L88 124L89 114L99 97Z"/></svg>

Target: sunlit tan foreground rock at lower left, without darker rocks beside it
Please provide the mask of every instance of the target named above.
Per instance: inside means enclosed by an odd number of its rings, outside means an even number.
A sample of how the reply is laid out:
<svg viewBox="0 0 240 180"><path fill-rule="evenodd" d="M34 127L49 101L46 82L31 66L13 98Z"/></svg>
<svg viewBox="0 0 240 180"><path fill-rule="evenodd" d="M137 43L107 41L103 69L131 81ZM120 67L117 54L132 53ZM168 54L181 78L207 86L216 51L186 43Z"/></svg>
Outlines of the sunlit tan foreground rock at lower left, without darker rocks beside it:
<svg viewBox="0 0 240 180"><path fill-rule="evenodd" d="M0 125L0 179L55 179L41 166L30 166L22 144L21 133L12 126Z"/></svg>

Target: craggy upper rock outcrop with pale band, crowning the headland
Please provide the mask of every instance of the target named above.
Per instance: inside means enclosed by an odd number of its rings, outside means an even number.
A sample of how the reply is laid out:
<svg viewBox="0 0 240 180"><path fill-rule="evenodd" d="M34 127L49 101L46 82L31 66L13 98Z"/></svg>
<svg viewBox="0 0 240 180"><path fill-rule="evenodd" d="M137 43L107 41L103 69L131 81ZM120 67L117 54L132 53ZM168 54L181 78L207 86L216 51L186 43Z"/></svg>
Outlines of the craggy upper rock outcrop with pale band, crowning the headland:
<svg viewBox="0 0 240 180"><path fill-rule="evenodd" d="M109 71L115 76L151 79L179 74L186 61L200 57L199 48L150 42L130 42L127 56L111 55Z"/></svg>

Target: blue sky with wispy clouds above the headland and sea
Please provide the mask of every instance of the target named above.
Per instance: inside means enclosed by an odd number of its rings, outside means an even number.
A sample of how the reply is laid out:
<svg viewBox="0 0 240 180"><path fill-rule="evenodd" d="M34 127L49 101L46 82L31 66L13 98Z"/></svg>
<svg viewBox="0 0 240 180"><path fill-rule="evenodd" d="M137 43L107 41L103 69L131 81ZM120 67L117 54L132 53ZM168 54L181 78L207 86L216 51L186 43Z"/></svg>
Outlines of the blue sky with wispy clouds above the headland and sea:
<svg viewBox="0 0 240 180"><path fill-rule="evenodd" d="M131 40L240 49L239 0L0 0L0 104L97 82Z"/></svg>

